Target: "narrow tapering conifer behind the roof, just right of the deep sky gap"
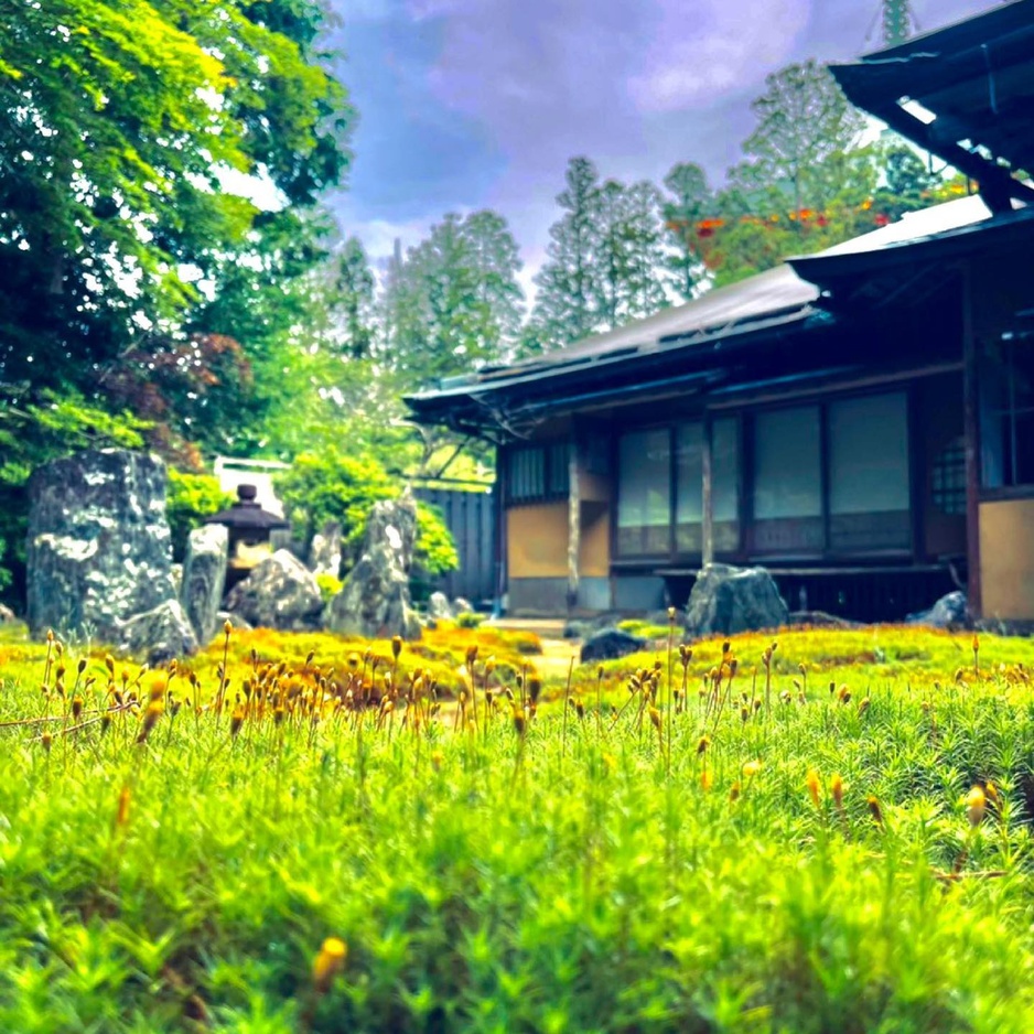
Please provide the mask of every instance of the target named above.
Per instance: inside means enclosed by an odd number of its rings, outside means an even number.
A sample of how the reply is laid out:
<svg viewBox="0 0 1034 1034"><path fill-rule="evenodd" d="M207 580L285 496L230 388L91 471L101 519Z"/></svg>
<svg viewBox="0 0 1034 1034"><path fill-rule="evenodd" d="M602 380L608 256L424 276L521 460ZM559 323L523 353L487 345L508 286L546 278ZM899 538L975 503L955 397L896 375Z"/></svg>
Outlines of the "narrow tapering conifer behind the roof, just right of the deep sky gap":
<svg viewBox="0 0 1034 1034"><path fill-rule="evenodd" d="M599 324L594 305L600 184L588 158L572 158L557 196L563 214L549 228L547 260L535 278L534 340L542 349L588 337Z"/></svg>

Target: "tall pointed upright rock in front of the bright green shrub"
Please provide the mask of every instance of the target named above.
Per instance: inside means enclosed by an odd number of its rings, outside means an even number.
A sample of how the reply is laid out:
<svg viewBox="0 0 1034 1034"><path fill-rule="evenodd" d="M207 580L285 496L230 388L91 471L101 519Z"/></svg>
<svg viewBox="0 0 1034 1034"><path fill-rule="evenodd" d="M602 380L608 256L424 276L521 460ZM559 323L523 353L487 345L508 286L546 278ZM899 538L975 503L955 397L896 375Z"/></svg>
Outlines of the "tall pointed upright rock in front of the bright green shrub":
<svg viewBox="0 0 1034 1034"><path fill-rule="evenodd" d="M417 506L409 494L375 503L359 560L327 604L326 627L342 635L420 638L410 605L409 569L417 539Z"/></svg>

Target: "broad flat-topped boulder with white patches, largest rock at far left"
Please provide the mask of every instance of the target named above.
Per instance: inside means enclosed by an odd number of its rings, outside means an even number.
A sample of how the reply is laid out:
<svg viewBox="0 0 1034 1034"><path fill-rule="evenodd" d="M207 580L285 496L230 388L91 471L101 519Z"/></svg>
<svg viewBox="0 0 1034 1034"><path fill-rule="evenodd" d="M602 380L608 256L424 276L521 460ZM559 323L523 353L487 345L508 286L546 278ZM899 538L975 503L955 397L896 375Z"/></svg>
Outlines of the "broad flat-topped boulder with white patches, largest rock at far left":
<svg viewBox="0 0 1034 1034"><path fill-rule="evenodd" d="M122 622L174 600L165 464L101 449L29 481L29 628L119 640Z"/></svg>

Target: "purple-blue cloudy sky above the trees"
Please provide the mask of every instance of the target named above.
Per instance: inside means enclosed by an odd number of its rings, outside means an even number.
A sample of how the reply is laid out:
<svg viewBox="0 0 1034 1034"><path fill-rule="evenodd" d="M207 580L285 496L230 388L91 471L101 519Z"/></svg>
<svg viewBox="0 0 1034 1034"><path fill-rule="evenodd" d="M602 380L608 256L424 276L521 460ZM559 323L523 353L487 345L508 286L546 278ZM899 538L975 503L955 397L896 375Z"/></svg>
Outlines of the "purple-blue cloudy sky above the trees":
<svg viewBox="0 0 1034 1034"><path fill-rule="evenodd" d="M539 266L569 158L720 183L765 76L877 49L879 0L332 0L359 110L342 228L375 257L449 211L498 209ZM922 30L995 0L914 0Z"/></svg>

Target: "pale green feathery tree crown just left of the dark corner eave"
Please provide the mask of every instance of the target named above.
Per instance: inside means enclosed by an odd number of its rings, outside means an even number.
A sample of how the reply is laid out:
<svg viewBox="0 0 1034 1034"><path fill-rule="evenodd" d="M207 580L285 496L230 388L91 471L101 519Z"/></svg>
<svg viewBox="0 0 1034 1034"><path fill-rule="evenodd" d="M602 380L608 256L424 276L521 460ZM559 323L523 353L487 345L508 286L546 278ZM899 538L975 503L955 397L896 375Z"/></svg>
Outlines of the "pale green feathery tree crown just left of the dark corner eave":
<svg viewBox="0 0 1034 1034"><path fill-rule="evenodd" d="M864 119L815 61L789 65L769 75L765 85L751 105L757 126L743 144L747 160L731 170L730 179L793 216L800 231L801 211L822 209L837 192L819 170L833 155L852 150Z"/></svg>

